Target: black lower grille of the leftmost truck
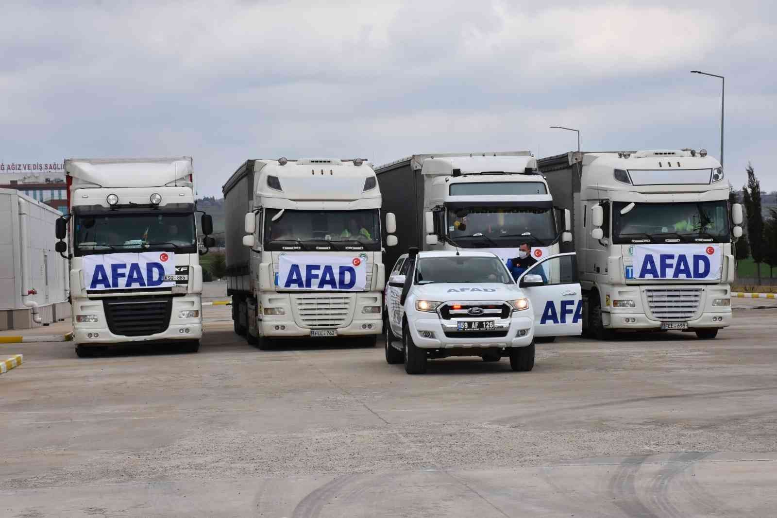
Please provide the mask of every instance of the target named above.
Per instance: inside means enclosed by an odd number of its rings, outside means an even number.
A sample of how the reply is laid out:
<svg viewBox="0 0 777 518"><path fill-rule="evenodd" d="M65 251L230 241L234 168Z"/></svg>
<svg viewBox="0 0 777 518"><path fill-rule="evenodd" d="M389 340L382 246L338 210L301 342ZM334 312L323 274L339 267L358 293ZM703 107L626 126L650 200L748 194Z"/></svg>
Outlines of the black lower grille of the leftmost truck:
<svg viewBox="0 0 777 518"><path fill-rule="evenodd" d="M170 324L172 297L106 299L103 309L108 329L114 335L154 335Z"/></svg>

